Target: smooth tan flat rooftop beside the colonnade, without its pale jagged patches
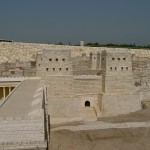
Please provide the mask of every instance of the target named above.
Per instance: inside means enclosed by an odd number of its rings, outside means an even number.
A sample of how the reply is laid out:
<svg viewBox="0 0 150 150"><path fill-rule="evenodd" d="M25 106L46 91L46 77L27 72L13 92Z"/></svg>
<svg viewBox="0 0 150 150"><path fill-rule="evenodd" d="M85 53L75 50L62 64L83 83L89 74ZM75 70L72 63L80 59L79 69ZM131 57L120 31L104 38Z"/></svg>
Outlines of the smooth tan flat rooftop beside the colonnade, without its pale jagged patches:
<svg viewBox="0 0 150 150"><path fill-rule="evenodd" d="M40 87L39 79L24 80L0 107L0 117L24 117L32 111L34 94Z"/></svg>

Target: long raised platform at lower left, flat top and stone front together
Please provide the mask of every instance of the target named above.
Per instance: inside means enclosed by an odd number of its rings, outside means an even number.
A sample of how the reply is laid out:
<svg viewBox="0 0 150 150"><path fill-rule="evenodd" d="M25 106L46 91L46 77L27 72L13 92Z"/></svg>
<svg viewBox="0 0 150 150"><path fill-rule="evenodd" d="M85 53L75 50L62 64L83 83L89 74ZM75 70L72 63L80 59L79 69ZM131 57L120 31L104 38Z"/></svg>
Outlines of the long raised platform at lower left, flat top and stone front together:
<svg viewBox="0 0 150 150"><path fill-rule="evenodd" d="M0 149L46 149L43 87L22 81L0 107Z"/></svg>

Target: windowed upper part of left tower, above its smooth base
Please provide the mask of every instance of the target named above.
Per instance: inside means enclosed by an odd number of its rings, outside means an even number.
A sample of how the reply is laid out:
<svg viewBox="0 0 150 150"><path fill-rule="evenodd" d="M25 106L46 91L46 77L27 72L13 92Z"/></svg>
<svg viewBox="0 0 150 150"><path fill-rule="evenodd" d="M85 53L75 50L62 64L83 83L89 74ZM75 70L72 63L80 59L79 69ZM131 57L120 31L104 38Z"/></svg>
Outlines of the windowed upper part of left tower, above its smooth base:
<svg viewBox="0 0 150 150"><path fill-rule="evenodd" d="M38 54L37 76L48 85L48 96L72 94L72 60L70 50L44 50Z"/></svg>

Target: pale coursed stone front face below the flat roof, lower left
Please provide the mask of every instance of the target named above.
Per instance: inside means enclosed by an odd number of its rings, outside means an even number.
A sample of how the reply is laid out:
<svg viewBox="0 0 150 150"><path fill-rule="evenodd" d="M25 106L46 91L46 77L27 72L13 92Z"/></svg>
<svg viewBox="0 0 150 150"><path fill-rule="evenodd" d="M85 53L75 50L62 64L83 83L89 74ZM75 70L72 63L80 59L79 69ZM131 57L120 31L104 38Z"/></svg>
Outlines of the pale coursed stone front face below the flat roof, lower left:
<svg viewBox="0 0 150 150"><path fill-rule="evenodd" d="M12 120L0 122L0 143L45 141L44 122L41 120Z"/></svg>

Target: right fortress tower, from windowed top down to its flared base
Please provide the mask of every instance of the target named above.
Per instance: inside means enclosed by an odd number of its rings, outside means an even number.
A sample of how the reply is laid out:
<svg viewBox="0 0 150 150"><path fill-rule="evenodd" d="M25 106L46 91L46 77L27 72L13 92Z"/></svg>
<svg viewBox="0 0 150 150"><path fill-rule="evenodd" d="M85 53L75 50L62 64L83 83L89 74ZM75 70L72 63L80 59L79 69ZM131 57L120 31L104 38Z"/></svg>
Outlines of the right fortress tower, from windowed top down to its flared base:
<svg viewBox="0 0 150 150"><path fill-rule="evenodd" d="M129 52L107 52L104 69L104 95L102 115L116 115L141 109L132 74L132 57Z"/></svg>

